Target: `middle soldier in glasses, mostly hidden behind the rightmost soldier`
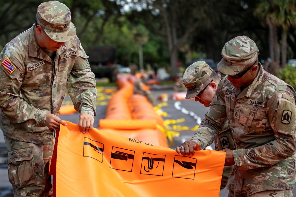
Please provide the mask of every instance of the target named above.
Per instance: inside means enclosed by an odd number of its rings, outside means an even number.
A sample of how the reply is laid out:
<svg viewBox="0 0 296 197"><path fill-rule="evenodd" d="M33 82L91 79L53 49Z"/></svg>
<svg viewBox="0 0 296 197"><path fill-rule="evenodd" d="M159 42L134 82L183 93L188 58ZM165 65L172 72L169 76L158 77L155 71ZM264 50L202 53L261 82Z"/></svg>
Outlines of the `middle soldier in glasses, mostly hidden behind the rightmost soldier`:
<svg viewBox="0 0 296 197"><path fill-rule="evenodd" d="M183 75L183 84L187 88L186 99L194 98L205 107L209 107L213 101L214 93L218 87L220 77L204 61L198 61L186 68ZM229 148L235 149L234 139L229 122L226 121L222 127L221 133L215 138L215 150ZM226 188L229 190L229 196L234 196L233 167L225 166L221 180L220 190Z"/></svg>

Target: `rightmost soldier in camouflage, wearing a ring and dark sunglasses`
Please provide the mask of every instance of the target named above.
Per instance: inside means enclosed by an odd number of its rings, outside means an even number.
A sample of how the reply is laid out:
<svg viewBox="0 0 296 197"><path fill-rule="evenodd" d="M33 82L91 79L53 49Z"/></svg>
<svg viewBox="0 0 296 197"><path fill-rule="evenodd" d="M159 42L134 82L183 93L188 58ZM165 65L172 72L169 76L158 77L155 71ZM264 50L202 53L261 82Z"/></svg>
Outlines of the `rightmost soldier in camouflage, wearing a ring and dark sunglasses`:
<svg viewBox="0 0 296 197"><path fill-rule="evenodd" d="M295 90L266 72L247 36L228 41L218 70L226 74L210 110L181 155L210 145L229 120L237 149L224 149L234 166L235 196L293 196L295 185Z"/></svg>

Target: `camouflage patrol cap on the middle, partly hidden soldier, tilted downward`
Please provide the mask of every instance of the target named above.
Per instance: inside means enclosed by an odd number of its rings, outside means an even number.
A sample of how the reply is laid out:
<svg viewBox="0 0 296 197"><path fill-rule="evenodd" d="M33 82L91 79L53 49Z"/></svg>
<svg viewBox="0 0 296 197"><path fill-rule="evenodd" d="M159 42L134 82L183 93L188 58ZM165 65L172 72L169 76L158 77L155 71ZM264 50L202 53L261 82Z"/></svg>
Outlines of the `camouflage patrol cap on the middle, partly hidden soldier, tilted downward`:
<svg viewBox="0 0 296 197"><path fill-rule="evenodd" d="M205 63L197 61L186 68L183 75L183 84L187 88L186 99L191 99L200 93L203 84L209 79L210 75L215 72Z"/></svg>

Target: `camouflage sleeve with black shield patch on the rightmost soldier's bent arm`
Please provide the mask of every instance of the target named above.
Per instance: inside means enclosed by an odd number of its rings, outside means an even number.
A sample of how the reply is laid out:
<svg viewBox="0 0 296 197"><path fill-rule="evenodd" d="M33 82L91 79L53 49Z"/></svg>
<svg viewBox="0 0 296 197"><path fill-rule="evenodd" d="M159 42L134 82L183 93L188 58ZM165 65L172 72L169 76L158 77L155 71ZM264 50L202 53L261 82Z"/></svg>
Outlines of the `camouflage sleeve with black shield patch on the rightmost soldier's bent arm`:
<svg viewBox="0 0 296 197"><path fill-rule="evenodd" d="M286 91L276 92L266 106L274 140L262 146L234 150L239 171L268 167L295 154L296 107L295 98ZM264 136L262 136L264 138Z"/></svg>

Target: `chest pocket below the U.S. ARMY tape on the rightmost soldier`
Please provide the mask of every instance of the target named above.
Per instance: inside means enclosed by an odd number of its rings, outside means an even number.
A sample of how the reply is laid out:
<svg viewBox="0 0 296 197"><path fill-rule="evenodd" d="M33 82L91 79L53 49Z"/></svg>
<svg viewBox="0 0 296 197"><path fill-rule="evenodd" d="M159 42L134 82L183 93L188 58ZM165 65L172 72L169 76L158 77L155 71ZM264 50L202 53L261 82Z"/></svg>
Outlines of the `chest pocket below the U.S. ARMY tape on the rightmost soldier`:
<svg viewBox="0 0 296 197"><path fill-rule="evenodd" d="M268 122L266 112L262 112L256 106L253 106L250 110L249 116L244 127L247 133L262 133Z"/></svg>

